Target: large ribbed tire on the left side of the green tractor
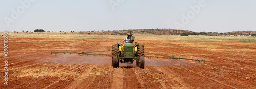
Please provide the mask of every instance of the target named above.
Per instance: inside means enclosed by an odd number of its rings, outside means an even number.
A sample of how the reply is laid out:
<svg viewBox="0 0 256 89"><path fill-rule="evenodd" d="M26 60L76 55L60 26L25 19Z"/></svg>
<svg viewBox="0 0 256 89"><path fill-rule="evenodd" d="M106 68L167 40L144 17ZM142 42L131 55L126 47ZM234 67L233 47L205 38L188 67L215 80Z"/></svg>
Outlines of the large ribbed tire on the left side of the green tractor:
<svg viewBox="0 0 256 89"><path fill-rule="evenodd" d="M118 61L117 55L119 55L118 52L119 52L118 46L117 44L114 44L112 46L112 64L111 64L111 66L113 66L114 68L119 67L119 62L117 62Z"/></svg>

